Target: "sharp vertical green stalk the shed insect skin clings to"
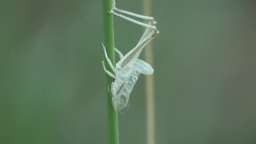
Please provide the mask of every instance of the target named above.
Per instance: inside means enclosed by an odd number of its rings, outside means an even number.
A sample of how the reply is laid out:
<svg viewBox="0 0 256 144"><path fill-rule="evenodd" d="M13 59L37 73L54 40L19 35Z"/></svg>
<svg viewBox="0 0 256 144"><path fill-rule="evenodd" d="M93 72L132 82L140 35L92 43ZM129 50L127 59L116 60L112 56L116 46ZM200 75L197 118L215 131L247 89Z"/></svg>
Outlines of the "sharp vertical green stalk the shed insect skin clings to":
<svg viewBox="0 0 256 144"><path fill-rule="evenodd" d="M115 66L113 16L107 12L112 8L112 0L102 0L102 3L104 44L107 50L107 55L112 64ZM106 59L105 65L107 70L113 73L112 69L109 67L109 64L107 64ZM112 107L112 99L108 92L108 87L114 81L114 79L106 74L106 81L108 141L109 144L119 144L117 112Z"/></svg>

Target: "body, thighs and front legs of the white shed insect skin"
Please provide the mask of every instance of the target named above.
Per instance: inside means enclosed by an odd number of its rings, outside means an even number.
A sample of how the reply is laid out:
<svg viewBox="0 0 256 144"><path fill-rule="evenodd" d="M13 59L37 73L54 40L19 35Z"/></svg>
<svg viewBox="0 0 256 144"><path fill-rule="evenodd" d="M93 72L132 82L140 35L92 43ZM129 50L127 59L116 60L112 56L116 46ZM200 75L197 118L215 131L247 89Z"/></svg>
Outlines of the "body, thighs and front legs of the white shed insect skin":
<svg viewBox="0 0 256 144"><path fill-rule="evenodd" d="M152 20L148 25L154 26L155 24L156 21ZM110 92L112 95L112 105L116 111L128 107L130 93L138 80L140 73L145 75L153 74L154 70L152 67L147 62L138 59L138 57L142 49L158 34L159 31L157 29L147 27L136 47L129 51L125 56L115 48L115 51L120 56L120 61L117 62L116 67L114 67L109 60L104 43L102 43L107 62L115 73L114 75L109 72L105 67L104 61L102 61L105 72L109 76L115 78L115 81L111 84Z"/></svg>

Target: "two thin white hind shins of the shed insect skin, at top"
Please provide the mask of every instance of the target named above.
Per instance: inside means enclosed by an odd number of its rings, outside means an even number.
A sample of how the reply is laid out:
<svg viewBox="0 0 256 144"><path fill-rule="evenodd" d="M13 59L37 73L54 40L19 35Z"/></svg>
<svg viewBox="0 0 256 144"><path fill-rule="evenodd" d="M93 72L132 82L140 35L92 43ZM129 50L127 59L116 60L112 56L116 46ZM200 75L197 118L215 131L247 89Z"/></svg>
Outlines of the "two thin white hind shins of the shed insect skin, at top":
<svg viewBox="0 0 256 144"><path fill-rule="evenodd" d="M155 27L154 25L145 24L143 22L140 22L140 21L137 21L135 19L131 19L131 18L127 17L127 16L123 16L122 14L119 14L119 13L124 13L124 14L130 15L130 16L135 16L137 18L141 18L141 19L148 19L150 21L154 20L154 18L151 17L151 16L143 16L143 15L139 15L139 14L136 14L136 13L132 13L132 12L129 12L129 11L124 11L124 10L120 10L120 9L116 8L115 7L115 0L112 0L112 8L108 12L112 13L113 15L118 16L118 17L120 17L122 19L125 19L127 21L131 21L131 22L133 22L135 24L139 24L139 25L141 25L143 27L148 27L148 28L151 28L151 29L157 29L157 27Z"/></svg>

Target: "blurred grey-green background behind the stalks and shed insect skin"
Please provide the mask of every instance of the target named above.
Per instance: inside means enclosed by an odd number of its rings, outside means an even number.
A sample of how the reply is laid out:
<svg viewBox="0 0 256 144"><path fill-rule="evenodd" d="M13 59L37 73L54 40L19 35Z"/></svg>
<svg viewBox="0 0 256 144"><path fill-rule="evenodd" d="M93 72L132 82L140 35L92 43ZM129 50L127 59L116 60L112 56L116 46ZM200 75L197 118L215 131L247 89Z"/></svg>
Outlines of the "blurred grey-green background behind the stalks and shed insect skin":
<svg viewBox="0 0 256 144"><path fill-rule="evenodd" d="M101 0L0 3L0 144L106 144ZM156 144L256 144L255 1L153 0L152 16ZM114 21L127 53L144 28ZM144 78L120 144L146 144Z"/></svg>

